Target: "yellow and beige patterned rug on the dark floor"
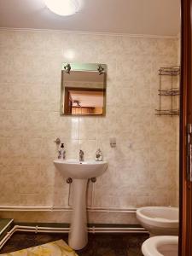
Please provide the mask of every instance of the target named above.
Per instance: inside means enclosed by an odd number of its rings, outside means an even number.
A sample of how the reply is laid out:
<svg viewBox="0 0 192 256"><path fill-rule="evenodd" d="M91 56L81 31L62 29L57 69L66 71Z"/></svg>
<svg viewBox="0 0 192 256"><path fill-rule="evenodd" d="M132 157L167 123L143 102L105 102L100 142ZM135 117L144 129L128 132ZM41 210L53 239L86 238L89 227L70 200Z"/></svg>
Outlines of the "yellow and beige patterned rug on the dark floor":
<svg viewBox="0 0 192 256"><path fill-rule="evenodd" d="M63 240L51 241L38 247L29 247L4 256L78 256Z"/></svg>

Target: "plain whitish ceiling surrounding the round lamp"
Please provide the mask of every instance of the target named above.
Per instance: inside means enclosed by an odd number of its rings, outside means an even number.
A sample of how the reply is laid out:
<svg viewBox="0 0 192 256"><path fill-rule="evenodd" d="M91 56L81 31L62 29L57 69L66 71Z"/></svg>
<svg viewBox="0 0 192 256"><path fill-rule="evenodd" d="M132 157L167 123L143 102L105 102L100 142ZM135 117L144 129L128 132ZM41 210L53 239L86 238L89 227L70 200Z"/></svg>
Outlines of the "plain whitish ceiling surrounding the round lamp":
<svg viewBox="0 0 192 256"><path fill-rule="evenodd" d="M84 0L67 17L43 0L0 0L0 27L176 36L179 24L180 0Z"/></svg>

